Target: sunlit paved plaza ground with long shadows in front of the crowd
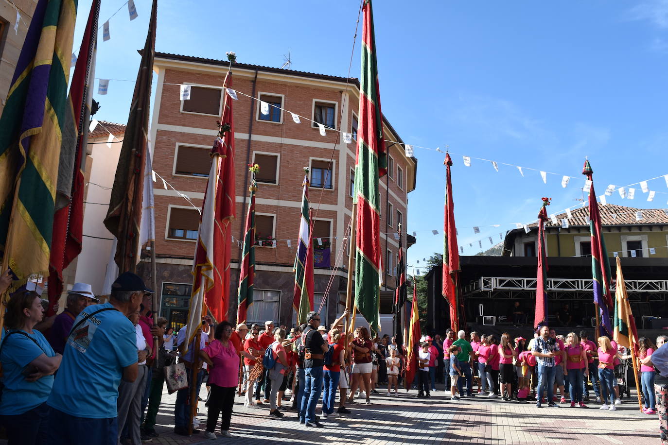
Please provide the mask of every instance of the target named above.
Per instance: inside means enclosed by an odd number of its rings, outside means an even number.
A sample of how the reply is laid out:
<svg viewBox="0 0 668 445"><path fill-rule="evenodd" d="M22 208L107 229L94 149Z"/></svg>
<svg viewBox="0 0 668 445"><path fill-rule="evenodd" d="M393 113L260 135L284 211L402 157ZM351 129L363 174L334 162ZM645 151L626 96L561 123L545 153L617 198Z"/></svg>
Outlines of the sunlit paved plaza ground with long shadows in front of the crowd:
<svg viewBox="0 0 668 445"><path fill-rule="evenodd" d="M202 396L206 396L202 386ZM297 423L294 412L269 417L269 408L246 409L236 398L232 438L206 440L202 436L206 407L199 404L202 432L192 437L176 436L174 400L164 393L156 430L160 437L152 444L651 444L659 443L657 416L638 411L626 399L615 412L590 408L535 407L534 402L502 402L487 398L466 398L450 402L446 393L432 393L430 400L416 399L415 390L401 390L399 397L375 396L373 405L353 404L352 413L321 420L323 428L306 428ZM635 393L632 394L635 396ZM288 406L288 402L284 402Z"/></svg>

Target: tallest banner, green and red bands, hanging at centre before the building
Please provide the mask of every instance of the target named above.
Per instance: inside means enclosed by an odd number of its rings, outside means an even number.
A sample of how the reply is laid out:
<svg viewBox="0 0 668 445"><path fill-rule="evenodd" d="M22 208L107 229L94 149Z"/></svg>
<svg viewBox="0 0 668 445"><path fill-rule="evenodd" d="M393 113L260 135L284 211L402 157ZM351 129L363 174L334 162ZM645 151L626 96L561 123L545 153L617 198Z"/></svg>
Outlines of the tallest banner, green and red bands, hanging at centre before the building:
<svg viewBox="0 0 668 445"><path fill-rule="evenodd" d="M371 336L380 330L381 283L380 188L379 177L387 173L387 150L378 87L371 0L363 7L362 60L355 163L355 306L369 322Z"/></svg>

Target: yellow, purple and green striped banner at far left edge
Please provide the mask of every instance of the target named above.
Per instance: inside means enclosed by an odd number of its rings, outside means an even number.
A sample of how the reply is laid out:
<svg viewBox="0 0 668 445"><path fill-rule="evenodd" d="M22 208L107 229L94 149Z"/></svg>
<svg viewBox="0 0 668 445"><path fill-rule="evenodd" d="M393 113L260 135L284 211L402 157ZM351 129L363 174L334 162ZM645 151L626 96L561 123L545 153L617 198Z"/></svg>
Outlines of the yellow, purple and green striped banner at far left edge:
<svg viewBox="0 0 668 445"><path fill-rule="evenodd" d="M0 256L13 287L48 274L76 15L76 0L39 0L0 117Z"/></svg>

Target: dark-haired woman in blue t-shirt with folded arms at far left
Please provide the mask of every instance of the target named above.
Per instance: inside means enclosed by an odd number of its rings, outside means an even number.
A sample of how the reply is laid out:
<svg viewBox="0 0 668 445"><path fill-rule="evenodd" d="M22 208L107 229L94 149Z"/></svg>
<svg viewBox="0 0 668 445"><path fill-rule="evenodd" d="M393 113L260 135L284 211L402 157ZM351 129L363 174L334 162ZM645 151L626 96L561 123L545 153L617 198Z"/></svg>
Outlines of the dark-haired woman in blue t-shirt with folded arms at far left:
<svg viewBox="0 0 668 445"><path fill-rule="evenodd" d="M43 444L47 440L53 373L63 358L49 346L35 325L44 309L35 292L14 294L7 304L7 333L0 346L5 387L0 401L0 420L7 429L7 444Z"/></svg>

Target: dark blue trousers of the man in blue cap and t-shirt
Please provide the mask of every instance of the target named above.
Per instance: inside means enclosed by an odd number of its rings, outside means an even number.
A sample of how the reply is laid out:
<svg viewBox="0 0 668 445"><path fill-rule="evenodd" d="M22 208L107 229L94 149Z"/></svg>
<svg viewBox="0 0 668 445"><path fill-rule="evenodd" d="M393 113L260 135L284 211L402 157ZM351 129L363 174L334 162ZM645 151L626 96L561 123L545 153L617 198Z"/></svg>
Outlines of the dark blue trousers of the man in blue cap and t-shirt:
<svg viewBox="0 0 668 445"><path fill-rule="evenodd" d="M45 442L48 445L116 445L117 442L115 417L91 419L70 416L55 408L49 410L49 438Z"/></svg>

